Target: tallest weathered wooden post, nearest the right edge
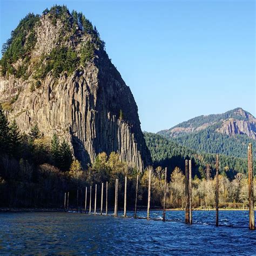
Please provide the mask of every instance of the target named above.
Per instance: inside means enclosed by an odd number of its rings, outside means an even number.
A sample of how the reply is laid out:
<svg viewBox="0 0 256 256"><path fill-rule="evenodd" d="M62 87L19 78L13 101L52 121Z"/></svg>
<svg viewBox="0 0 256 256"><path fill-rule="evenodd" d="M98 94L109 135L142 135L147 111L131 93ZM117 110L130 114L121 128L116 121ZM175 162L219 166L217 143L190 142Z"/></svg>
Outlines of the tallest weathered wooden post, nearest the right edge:
<svg viewBox="0 0 256 256"><path fill-rule="evenodd" d="M248 145L249 228L255 229L252 143Z"/></svg>

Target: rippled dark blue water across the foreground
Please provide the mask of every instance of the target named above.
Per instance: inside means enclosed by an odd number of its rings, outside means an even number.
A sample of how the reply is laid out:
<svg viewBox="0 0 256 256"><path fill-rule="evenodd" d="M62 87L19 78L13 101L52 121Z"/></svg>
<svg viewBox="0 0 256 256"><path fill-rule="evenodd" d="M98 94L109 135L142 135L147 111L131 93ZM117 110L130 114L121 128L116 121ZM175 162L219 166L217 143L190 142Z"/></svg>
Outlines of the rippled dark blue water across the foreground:
<svg viewBox="0 0 256 256"><path fill-rule="evenodd" d="M127 212L127 215L132 215ZM161 219L161 211L151 218ZM122 215L122 212L119 212ZM0 214L0 254L255 254L256 231L248 229L247 211L168 211L172 222L61 212ZM138 216L146 217L145 211Z"/></svg>

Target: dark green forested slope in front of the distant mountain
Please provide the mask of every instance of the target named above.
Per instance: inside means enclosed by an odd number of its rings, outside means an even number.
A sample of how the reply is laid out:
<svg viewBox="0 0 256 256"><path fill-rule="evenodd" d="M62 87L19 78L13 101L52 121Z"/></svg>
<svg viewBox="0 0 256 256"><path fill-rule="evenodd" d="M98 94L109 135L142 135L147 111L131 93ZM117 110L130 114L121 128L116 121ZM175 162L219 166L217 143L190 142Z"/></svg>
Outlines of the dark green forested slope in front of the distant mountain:
<svg viewBox="0 0 256 256"><path fill-rule="evenodd" d="M184 170L184 159L191 158L194 175L201 177L200 170L205 170L206 164L210 164L214 170L215 154L198 153L196 150L178 145L173 139L153 133L144 133L147 147L149 147L154 166L168 166L170 170L179 167ZM255 161L256 164L256 161ZM254 164L254 172L256 168ZM237 173L247 173L247 160L236 157L220 155L220 172L230 179Z"/></svg>

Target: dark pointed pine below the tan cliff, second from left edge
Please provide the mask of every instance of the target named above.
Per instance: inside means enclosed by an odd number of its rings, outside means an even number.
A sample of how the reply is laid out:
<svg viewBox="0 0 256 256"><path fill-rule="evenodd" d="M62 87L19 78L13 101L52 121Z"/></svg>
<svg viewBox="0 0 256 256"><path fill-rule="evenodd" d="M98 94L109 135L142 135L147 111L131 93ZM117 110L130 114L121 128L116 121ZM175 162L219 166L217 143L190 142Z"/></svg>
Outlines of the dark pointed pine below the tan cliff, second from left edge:
<svg viewBox="0 0 256 256"><path fill-rule="evenodd" d="M11 153L17 157L20 150L21 150L21 133L19 131L19 127L16 123L16 121L12 121L11 125L10 125L10 150Z"/></svg>

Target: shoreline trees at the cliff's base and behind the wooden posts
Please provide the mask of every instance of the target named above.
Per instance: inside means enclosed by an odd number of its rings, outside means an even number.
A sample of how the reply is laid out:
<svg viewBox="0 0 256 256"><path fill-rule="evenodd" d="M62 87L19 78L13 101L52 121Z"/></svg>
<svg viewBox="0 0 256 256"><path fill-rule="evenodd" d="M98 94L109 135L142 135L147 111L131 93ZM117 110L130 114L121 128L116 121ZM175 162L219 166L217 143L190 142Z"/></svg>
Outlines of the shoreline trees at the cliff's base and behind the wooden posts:
<svg viewBox="0 0 256 256"><path fill-rule="evenodd" d="M148 139L148 138L147 138ZM148 143L148 142L147 142ZM155 142L155 147L159 145ZM161 147L159 148L161 149ZM173 152L180 154L181 149L172 147ZM172 159L168 166L158 165L153 154L152 168L152 207L163 206L164 167L167 172L167 207L183 208L185 205L184 165L185 157L179 155ZM192 158L193 170L193 207L213 207L215 187L215 156L200 157L193 155L193 151L184 150L186 157ZM167 154L171 151L167 150ZM151 149L152 153L152 149ZM156 153L156 152L155 152ZM173 155L174 156L174 155ZM177 160L176 162L174 160ZM199 160L200 159L200 160ZM164 162L162 162L164 163ZM206 170L203 163L211 163ZM221 165L221 163L224 163ZM248 200L246 172L233 172L225 169L225 157L220 156L220 206L246 207ZM246 167L246 166L245 166ZM127 206L134 206L136 193L136 179L139 174L138 206L147 204L147 189L149 169L140 173L131 164L120 161L116 152L109 156L105 152L99 153L93 163L83 169L80 162L72 155L69 143L60 139L56 133L51 138L45 136L35 124L28 134L21 133L17 123L8 122L2 107L0 107L0 193L1 207L60 207L63 205L64 193L70 191L70 206L76 207L76 192L79 200L84 200L85 187L95 184L109 183L109 206L113 205L114 181L119 179L119 205L122 207L124 198L124 179L127 177ZM210 173L210 174L209 174ZM255 186L256 187L256 186ZM98 191L99 192L99 191ZM98 193L100 198L100 192ZM98 198L98 201L99 201Z"/></svg>

